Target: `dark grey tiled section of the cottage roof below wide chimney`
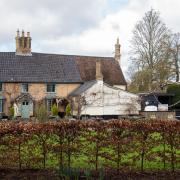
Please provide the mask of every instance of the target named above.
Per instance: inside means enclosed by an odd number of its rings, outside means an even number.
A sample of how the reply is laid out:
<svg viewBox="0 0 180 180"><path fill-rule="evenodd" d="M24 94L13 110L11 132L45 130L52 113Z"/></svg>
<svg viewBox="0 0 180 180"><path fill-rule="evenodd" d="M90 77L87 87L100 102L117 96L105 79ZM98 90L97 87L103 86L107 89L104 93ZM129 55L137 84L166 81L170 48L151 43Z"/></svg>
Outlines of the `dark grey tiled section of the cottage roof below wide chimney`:
<svg viewBox="0 0 180 180"><path fill-rule="evenodd" d="M0 53L1 82L82 82L74 56Z"/></svg>

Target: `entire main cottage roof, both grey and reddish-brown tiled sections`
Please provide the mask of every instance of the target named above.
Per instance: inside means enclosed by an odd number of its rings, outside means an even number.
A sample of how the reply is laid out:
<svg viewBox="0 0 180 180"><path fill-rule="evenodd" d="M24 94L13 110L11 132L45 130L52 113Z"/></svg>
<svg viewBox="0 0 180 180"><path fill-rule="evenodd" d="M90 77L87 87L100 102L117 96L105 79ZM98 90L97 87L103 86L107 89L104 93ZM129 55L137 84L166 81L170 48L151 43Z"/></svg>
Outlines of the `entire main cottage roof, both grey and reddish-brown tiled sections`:
<svg viewBox="0 0 180 180"><path fill-rule="evenodd" d="M0 82L78 83L95 80L96 61L101 61L104 82L126 85L122 70L111 57L32 53L18 56L0 52Z"/></svg>

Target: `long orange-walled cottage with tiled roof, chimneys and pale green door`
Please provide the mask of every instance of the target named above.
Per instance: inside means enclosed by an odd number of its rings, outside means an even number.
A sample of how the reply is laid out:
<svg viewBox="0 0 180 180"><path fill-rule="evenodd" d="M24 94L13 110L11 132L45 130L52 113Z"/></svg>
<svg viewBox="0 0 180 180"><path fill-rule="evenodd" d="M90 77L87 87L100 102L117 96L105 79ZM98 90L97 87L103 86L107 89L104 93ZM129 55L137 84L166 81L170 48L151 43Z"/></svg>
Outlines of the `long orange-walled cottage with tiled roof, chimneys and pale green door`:
<svg viewBox="0 0 180 180"><path fill-rule="evenodd" d="M59 113L65 110L68 96L87 81L96 79L96 62L101 62L105 83L126 89L120 61L119 40L114 57L94 57L35 53L31 37L22 31L16 34L16 51L0 52L0 113L29 118L36 104L42 102L48 112L53 103Z"/></svg>

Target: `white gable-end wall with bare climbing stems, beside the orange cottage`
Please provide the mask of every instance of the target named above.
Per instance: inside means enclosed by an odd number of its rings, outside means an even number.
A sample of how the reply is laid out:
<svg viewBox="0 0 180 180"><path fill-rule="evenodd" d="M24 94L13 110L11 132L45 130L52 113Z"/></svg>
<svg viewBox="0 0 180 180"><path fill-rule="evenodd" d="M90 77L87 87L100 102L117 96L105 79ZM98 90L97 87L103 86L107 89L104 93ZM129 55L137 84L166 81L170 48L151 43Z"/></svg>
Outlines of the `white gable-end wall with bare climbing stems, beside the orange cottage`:
<svg viewBox="0 0 180 180"><path fill-rule="evenodd" d="M139 97L127 91L106 86L98 82L82 95L86 104L81 108L82 115L128 115L139 114Z"/></svg>

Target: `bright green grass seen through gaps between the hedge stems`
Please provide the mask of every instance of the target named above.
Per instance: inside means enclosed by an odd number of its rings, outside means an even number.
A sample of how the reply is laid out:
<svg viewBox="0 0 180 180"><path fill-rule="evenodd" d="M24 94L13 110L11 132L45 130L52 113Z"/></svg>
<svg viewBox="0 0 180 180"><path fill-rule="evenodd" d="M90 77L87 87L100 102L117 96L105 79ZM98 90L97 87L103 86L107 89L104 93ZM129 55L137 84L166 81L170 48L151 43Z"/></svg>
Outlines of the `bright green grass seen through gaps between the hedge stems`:
<svg viewBox="0 0 180 180"><path fill-rule="evenodd" d="M92 132L91 135L95 135L94 132ZM12 136L6 136L4 140L12 139ZM149 139L149 142L151 140L158 140L160 141L161 135L158 133L154 133L151 135ZM58 137L56 135L52 135L50 138L47 138L46 140L46 168L56 168L59 166L59 153L53 152L53 147L57 145L57 139ZM71 155L71 167L73 168L87 168L87 169L95 169L95 142L89 143L85 138L80 137L80 144L78 147L76 147L74 144L72 145L73 148L75 147L74 152L72 152ZM81 142L82 141L82 142ZM67 141L66 141L67 143ZM79 143L79 142L78 142ZM67 145L67 144L66 144ZM121 153L121 162L120 166L123 168L129 168L129 169L140 169L141 167L141 159L140 159L140 148L138 147L140 145L140 142L132 141L130 144L124 144L125 152ZM154 145L152 148L149 148L150 144L146 144L146 148L148 149L148 154L145 155L145 161L144 161L144 169L153 169L153 170L159 170L164 169L164 164L160 156L158 156L158 152L163 151L163 144ZM132 147L131 151L128 151ZM137 148L138 147L138 148ZM9 161L7 161L7 164L10 166L17 166L18 164L18 146L17 143L13 144L6 144L6 145L0 145L0 158L3 159L3 157L9 157ZM166 155L170 156L169 153L169 146L166 144ZM87 154L88 155L87 155ZM105 147L99 148L99 153L106 153L110 157L110 159L107 159L103 156L98 157L98 168L103 168L105 166L109 166L111 168L116 168L116 162L111 160L115 159L117 156L117 153L112 148L112 145L108 145ZM153 154L153 157L151 155ZM156 155L155 155L156 154ZM176 156L180 157L180 150L176 149ZM92 161L93 160L93 161ZM21 145L21 161L22 165L29 166L32 168L43 168L43 148L42 148L42 142L40 142L40 139L38 136L34 136L30 140L22 143ZM63 161L64 166L68 166L68 157L67 152L63 152ZM14 163L12 163L14 162ZM1 163L2 164L2 163ZM6 164L6 163L5 163ZM171 164L170 161L166 160L166 167L165 169L170 169ZM176 164L176 169L180 169L180 164Z"/></svg>

